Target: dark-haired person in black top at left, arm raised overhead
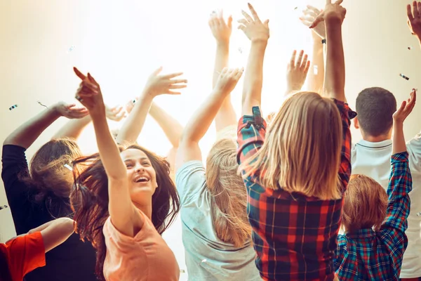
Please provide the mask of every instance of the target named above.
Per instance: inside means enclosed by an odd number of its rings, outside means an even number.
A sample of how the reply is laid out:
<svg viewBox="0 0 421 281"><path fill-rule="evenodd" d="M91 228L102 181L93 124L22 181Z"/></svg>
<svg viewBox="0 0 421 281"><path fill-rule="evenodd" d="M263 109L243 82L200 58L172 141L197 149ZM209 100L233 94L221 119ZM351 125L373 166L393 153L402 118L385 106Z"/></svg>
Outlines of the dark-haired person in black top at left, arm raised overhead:
<svg viewBox="0 0 421 281"><path fill-rule="evenodd" d="M86 117L85 108L57 103L11 133L3 144L1 178L18 235L55 218L72 218L69 195L74 182L72 160L81 156L79 146L67 138L48 141L28 167L25 151L59 117ZM46 254L46 266L25 276L25 280L96 280L95 250L78 234Z"/></svg>

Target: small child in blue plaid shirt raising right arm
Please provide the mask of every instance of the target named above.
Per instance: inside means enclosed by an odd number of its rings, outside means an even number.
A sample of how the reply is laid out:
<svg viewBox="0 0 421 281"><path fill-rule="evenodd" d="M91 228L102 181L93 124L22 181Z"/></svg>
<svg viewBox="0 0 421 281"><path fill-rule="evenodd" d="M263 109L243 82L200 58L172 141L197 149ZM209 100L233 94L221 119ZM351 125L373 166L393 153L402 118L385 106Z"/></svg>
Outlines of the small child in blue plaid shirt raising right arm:
<svg viewBox="0 0 421 281"><path fill-rule="evenodd" d="M393 115L394 136L387 195L380 183L353 175L345 192L342 226L338 235L335 271L340 280L399 280L403 252L408 245L412 178L403 137L403 121L413 110L416 91Z"/></svg>

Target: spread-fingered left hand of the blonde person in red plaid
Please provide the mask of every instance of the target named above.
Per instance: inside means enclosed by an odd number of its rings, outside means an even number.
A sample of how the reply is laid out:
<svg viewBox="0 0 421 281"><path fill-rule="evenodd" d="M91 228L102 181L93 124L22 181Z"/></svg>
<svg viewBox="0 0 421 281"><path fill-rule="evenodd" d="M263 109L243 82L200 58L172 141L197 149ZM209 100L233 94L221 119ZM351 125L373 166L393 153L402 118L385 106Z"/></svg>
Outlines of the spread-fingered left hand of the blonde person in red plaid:
<svg viewBox="0 0 421 281"><path fill-rule="evenodd" d="M250 3L248 8L253 18L245 11L241 11L244 18L239 20L241 24L239 25L239 30L243 30L250 41L267 41L269 39L269 20L262 22Z"/></svg>

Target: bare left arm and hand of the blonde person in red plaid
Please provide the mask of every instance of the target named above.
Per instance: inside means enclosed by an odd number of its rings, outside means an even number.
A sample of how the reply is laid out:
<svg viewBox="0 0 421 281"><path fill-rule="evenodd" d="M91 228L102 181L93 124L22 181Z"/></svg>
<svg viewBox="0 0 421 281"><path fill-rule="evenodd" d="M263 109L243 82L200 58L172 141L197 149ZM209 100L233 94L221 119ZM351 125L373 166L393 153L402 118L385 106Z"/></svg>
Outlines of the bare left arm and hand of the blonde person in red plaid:
<svg viewBox="0 0 421 281"><path fill-rule="evenodd" d="M250 54L246 74L244 76L243 98L241 115L253 115L252 107L262 102L263 60L267 41L269 40L269 20L262 22L251 4L248 4L248 13L242 11L244 18L239 20L239 30L243 30L251 41Z"/></svg>

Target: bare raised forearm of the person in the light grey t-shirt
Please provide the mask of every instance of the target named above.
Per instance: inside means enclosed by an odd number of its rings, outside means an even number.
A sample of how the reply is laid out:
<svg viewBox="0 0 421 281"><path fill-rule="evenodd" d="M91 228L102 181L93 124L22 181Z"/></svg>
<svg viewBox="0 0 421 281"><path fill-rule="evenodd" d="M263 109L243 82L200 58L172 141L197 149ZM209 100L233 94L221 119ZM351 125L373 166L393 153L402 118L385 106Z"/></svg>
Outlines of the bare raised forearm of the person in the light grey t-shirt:
<svg viewBox="0 0 421 281"><path fill-rule="evenodd" d="M199 143L201 138L206 134L206 131L208 131L213 119L215 119L226 96L227 93L218 91L213 91L213 93L210 94L206 99L206 102L199 107L199 110L197 110L189 119L189 122L187 122L182 133L181 142L188 141Z"/></svg>

